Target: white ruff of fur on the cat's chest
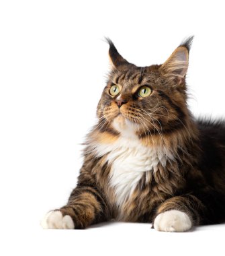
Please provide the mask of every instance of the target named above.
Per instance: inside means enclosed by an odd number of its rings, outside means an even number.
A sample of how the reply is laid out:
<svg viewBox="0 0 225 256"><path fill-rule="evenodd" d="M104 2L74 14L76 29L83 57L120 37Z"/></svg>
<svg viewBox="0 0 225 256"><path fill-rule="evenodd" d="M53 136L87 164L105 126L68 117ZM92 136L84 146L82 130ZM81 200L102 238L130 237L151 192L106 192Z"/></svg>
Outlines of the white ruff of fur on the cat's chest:
<svg viewBox="0 0 225 256"><path fill-rule="evenodd" d="M114 143L99 144L96 150L98 156L107 154L111 164L109 185L115 189L118 207L132 195L144 172L148 177L157 171L159 162L165 166L168 158L165 150L143 146L138 137L122 136Z"/></svg>

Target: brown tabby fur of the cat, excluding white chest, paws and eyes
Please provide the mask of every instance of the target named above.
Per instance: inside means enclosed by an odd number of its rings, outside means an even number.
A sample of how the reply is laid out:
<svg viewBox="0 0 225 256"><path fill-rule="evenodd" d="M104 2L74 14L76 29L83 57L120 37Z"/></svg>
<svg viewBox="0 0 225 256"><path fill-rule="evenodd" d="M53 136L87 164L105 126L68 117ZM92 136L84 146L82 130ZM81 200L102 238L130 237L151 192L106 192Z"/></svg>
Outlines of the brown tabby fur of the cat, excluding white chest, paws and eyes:
<svg viewBox="0 0 225 256"><path fill-rule="evenodd" d="M108 40L112 69L97 106L99 123L87 135L77 187L60 208L63 216L73 218L75 228L112 219L154 222L158 214L168 210L185 212L193 226L224 222L225 125L194 119L187 108L185 73L191 39L163 65L150 67L128 63ZM177 61L179 51L185 53L186 62ZM114 84L122 87L126 104L121 108L109 95ZM152 94L142 99L136 92L144 85L150 86ZM118 118L122 123L124 117L139 124L136 134L142 145L164 147L175 158L166 166L159 162L156 172L144 172L119 217L114 187L109 186L111 164L107 155L97 156L94 148L96 143L113 143L120 137L112 122Z"/></svg>

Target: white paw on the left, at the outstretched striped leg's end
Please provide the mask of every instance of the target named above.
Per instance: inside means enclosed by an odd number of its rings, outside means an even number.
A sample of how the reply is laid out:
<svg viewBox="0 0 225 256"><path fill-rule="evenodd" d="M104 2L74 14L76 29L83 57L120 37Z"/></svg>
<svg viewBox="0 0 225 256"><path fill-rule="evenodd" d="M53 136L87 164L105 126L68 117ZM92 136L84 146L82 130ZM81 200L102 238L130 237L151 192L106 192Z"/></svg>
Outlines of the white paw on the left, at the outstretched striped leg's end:
<svg viewBox="0 0 225 256"><path fill-rule="evenodd" d="M62 216L60 211L51 211L41 221L42 228L50 229L74 229L75 224L71 216Z"/></svg>

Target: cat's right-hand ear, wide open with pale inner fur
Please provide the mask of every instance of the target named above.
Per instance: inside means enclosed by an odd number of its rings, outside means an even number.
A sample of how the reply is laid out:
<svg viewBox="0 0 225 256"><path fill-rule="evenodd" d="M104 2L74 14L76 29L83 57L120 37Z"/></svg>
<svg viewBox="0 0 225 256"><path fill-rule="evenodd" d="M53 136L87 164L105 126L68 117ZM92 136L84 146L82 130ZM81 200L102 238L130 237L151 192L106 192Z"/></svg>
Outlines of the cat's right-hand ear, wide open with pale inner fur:
<svg viewBox="0 0 225 256"><path fill-rule="evenodd" d="M187 73L189 51L193 36L184 40L175 51L171 54L169 59L163 63L161 70L167 75L174 75L184 78Z"/></svg>

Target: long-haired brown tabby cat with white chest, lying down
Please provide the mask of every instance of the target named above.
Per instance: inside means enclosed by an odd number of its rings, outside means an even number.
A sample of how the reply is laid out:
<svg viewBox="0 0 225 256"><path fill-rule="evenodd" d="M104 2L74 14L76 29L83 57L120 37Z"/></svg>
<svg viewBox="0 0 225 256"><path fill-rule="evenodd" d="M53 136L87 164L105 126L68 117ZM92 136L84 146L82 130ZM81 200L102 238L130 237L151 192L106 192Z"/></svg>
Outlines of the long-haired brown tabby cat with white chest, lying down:
<svg viewBox="0 0 225 256"><path fill-rule="evenodd" d="M43 228L120 220L184 232L225 221L225 122L195 119L187 107L192 40L163 65L137 67L107 38L111 70L77 187Z"/></svg>

